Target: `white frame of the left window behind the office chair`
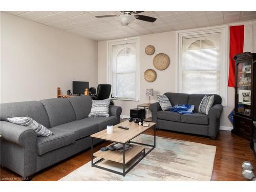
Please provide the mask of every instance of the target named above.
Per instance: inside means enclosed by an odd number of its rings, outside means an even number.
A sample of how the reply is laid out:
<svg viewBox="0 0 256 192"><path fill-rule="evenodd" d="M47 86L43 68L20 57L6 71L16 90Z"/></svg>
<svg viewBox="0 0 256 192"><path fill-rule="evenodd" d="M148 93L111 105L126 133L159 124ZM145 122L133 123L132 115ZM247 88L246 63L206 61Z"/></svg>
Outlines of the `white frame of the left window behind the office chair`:
<svg viewBox="0 0 256 192"><path fill-rule="evenodd" d="M111 92L115 89L116 82L113 82L112 73L112 46L126 43L136 43L136 98L120 98L115 97L114 100L139 101L140 100L140 37L122 38L106 41L107 45L107 82L112 85ZM114 93L115 94L115 93Z"/></svg>

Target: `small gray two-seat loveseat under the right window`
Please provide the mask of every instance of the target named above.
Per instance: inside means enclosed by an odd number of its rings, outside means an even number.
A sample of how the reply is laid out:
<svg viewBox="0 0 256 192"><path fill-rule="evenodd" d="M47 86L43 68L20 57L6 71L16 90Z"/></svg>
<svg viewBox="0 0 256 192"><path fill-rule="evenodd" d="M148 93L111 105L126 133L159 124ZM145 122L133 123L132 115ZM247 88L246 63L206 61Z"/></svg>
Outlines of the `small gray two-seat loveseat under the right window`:
<svg viewBox="0 0 256 192"><path fill-rule="evenodd" d="M158 129L184 132L209 136L216 139L220 129L220 116L223 110L221 97L214 95L214 105L210 108L209 114L198 113L198 108L205 94L183 94L165 93L172 106L175 104L195 105L193 114L180 114L172 111L162 111L158 102L150 105L152 121L156 122Z"/></svg>

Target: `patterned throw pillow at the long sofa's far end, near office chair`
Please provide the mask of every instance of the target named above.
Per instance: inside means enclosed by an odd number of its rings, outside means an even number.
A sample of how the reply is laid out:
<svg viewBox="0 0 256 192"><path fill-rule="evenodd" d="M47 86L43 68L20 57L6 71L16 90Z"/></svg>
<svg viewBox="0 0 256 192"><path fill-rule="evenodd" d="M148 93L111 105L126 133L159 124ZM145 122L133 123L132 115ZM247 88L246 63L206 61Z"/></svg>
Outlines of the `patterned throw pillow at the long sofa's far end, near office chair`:
<svg viewBox="0 0 256 192"><path fill-rule="evenodd" d="M109 117L110 99L93 100L89 117Z"/></svg>

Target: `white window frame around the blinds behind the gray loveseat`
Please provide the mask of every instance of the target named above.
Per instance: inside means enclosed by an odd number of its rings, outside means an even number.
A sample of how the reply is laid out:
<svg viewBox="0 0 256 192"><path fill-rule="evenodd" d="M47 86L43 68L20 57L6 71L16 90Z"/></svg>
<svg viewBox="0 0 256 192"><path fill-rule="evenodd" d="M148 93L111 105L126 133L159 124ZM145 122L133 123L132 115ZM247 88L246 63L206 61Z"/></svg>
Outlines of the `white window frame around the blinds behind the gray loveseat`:
<svg viewBox="0 0 256 192"><path fill-rule="evenodd" d="M181 57L182 44L184 36L204 35L209 33L220 33L220 96L222 98L222 105L227 106L227 82L228 82L228 26L206 27L201 29L189 29L176 32L177 39L177 88L176 91L181 93Z"/></svg>

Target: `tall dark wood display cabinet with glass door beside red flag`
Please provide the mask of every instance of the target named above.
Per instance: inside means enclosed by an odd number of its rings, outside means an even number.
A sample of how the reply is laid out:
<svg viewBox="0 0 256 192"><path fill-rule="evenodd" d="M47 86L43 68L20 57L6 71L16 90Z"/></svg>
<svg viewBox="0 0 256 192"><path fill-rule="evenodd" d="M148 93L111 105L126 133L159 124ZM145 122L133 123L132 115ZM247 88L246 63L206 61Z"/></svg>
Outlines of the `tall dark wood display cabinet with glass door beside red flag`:
<svg viewBox="0 0 256 192"><path fill-rule="evenodd" d="M232 133L251 141L256 120L256 54L245 52L233 59L236 61L236 87Z"/></svg>

